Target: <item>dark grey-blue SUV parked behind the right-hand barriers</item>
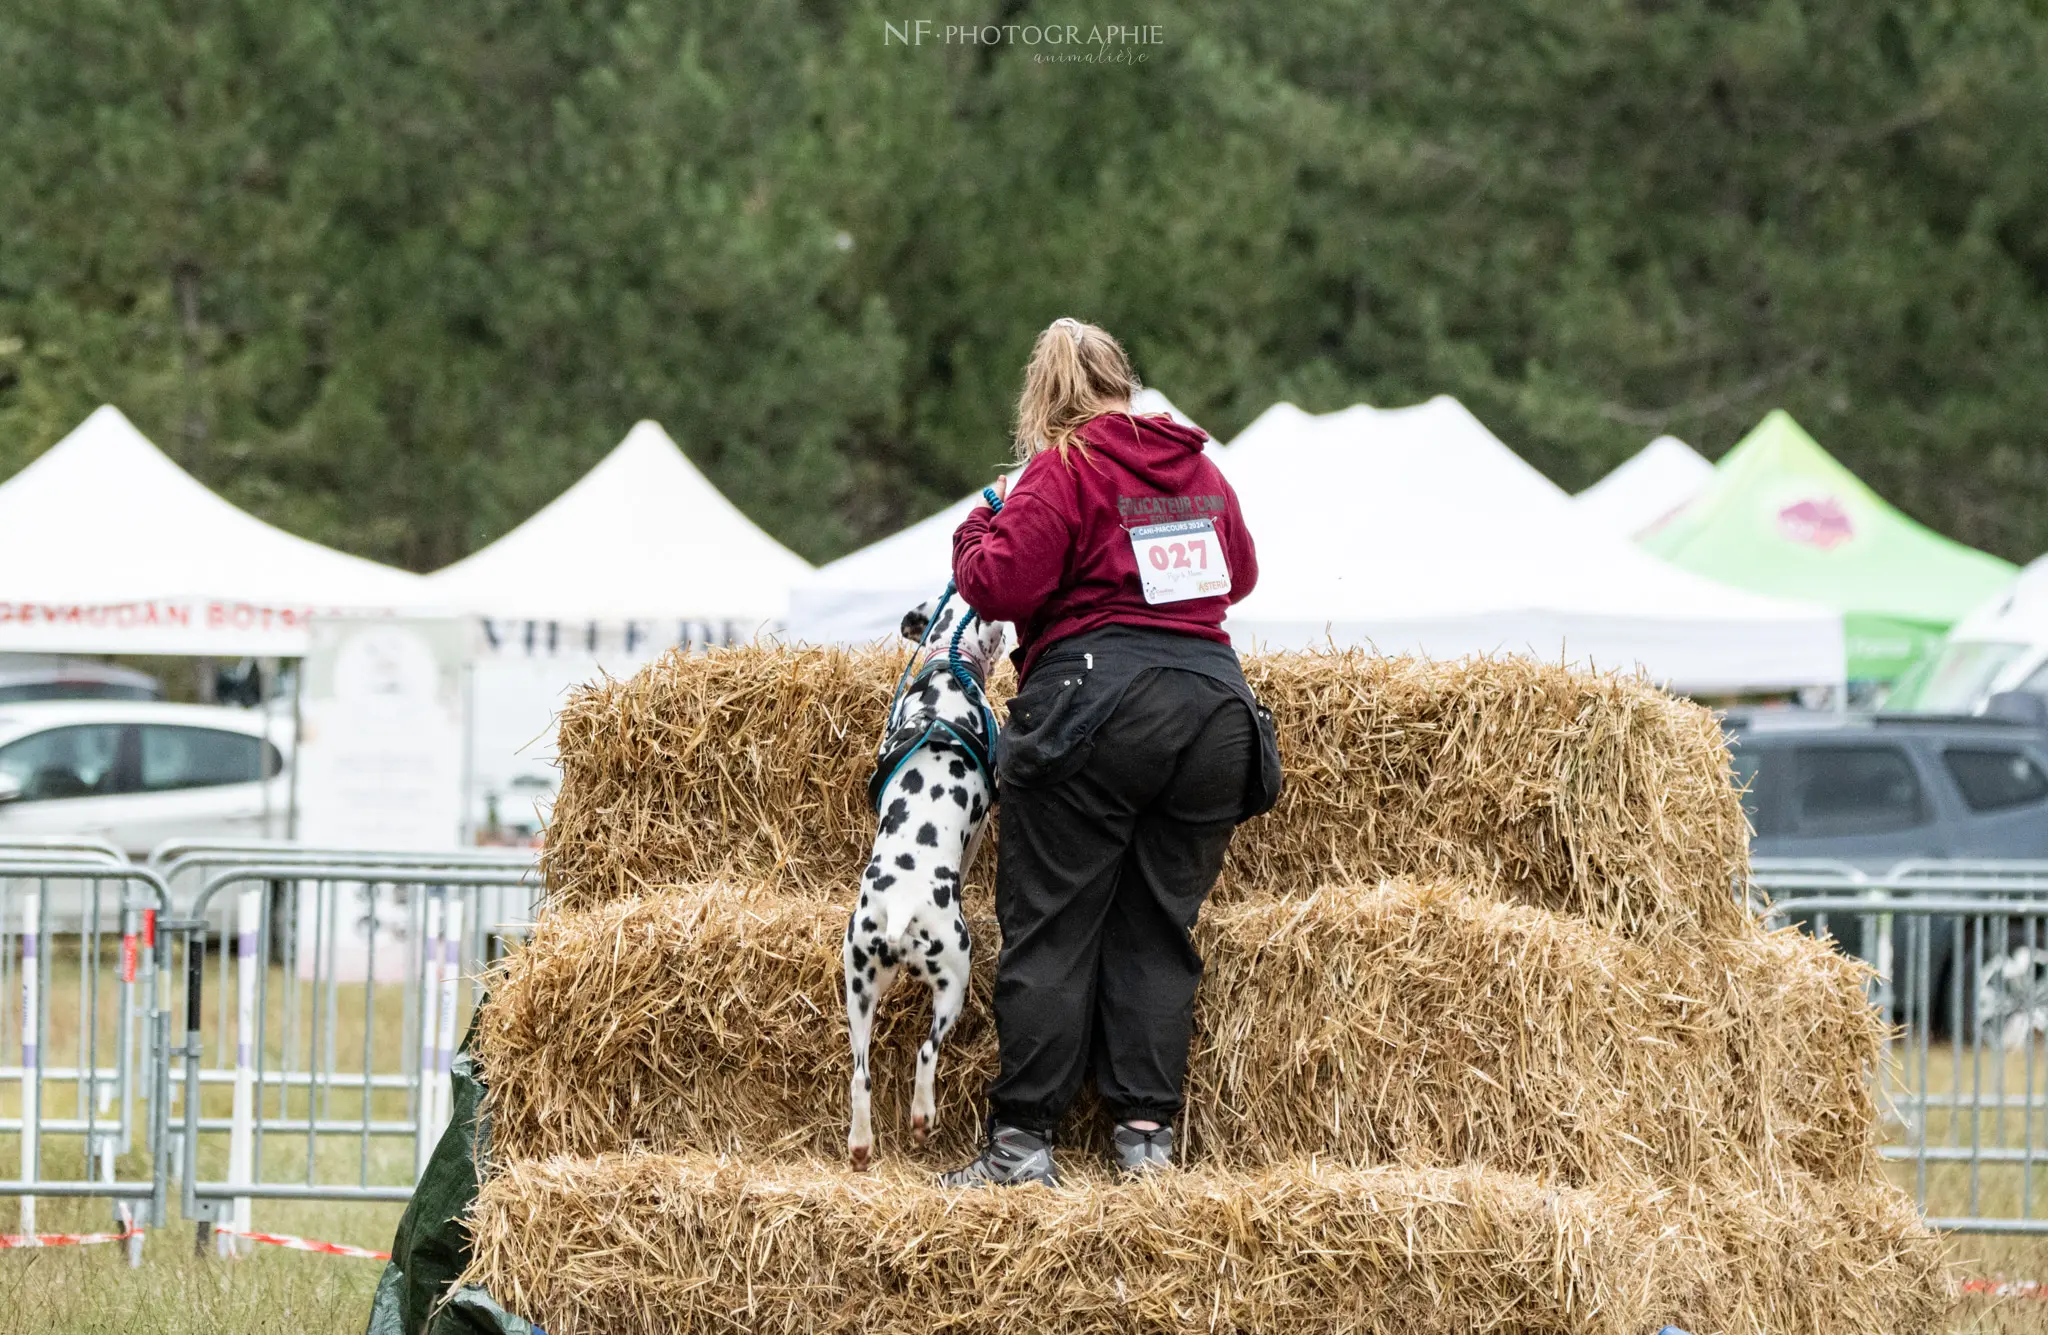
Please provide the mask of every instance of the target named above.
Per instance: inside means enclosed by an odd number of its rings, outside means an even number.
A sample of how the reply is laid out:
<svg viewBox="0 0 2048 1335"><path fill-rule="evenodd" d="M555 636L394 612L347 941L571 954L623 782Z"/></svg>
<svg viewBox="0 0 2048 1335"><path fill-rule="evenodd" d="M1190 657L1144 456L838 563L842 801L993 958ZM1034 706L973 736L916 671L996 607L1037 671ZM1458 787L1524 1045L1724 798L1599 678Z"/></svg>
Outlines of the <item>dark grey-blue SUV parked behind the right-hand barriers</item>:
<svg viewBox="0 0 2048 1335"><path fill-rule="evenodd" d="M1862 872L1886 872L1907 858L2048 860L2048 719L2021 704L2013 702L2011 717L1968 719L1729 717L1737 776L1749 788L1743 805L1755 829L1751 854L1847 862ZM2040 928L2013 917L2003 928L2009 940L1978 942L1980 928L1991 932L1995 921L1917 921L1925 923L1925 944L1903 936L1901 958L1892 960L1894 1020L1923 1003L1929 1026L1954 1034L1960 1003L1964 1018L1995 1022L2019 1005L1991 995L2001 987L2023 991L2028 1014L2040 1005L2038 993L2048 987ZM1868 923L1829 925L1845 948L1874 954L1864 946ZM1925 985L1915 977L1915 954L1927 960Z"/></svg>

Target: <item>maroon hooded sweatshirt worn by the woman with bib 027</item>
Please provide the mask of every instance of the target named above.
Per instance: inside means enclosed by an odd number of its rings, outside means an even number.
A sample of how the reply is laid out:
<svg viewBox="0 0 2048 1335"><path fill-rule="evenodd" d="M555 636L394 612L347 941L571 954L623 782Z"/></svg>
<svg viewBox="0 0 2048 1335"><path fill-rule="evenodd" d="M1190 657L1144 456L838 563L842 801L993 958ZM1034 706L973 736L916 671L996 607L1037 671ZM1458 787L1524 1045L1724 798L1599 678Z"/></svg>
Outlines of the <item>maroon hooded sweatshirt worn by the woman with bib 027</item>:
<svg viewBox="0 0 2048 1335"><path fill-rule="evenodd" d="M1208 436L1165 414L1102 414L1075 434L1065 457L1024 465L1001 514L977 506L952 532L952 579L971 608L1016 625L1018 676L1047 645L1102 627L1231 643L1223 614L1257 584L1260 559L1237 493L1202 455ZM1145 600L1130 530L1174 520L1214 524L1229 594Z"/></svg>

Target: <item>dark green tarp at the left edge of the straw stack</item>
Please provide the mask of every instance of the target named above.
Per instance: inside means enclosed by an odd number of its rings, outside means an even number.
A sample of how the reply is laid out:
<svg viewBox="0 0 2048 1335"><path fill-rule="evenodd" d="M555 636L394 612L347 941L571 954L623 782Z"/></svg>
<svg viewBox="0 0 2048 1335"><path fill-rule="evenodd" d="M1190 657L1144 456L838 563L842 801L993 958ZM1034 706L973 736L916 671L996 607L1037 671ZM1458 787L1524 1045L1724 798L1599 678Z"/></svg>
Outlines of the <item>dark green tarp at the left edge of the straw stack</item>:
<svg viewBox="0 0 2048 1335"><path fill-rule="evenodd" d="M477 1009L481 1016L481 1007ZM451 1073L449 1130L434 1147L420 1183L412 1190L406 1216L391 1241L391 1263L377 1282L365 1335L541 1335L520 1317L506 1312L481 1288L449 1294L455 1276L469 1265L469 1231L463 1216L477 1198L477 1163L489 1151L492 1128L483 1116L483 1079L469 1054L469 1036ZM446 1294L446 1302L442 1302Z"/></svg>

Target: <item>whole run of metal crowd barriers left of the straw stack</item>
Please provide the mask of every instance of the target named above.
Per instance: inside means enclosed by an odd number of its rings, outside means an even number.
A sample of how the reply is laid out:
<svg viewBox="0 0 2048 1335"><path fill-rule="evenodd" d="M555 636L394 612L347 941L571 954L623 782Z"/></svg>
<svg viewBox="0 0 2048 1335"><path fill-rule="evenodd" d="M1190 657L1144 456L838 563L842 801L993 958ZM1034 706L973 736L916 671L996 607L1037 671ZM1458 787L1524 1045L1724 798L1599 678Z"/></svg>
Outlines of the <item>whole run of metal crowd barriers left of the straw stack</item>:
<svg viewBox="0 0 2048 1335"><path fill-rule="evenodd" d="M254 1200L406 1200L475 977L537 893L530 852L0 842L20 1231L39 1196L109 1198L139 1261L172 1179L203 1233L246 1231Z"/></svg>

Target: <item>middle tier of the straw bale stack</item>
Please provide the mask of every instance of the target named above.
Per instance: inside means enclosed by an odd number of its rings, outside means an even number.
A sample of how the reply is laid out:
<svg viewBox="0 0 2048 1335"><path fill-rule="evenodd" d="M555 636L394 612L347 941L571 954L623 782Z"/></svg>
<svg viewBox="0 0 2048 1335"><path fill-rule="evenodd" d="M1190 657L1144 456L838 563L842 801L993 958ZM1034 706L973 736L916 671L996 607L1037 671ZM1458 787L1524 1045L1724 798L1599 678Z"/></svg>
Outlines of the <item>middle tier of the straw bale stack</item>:
<svg viewBox="0 0 2048 1335"><path fill-rule="evenodd" d="M715 885L543 919L479 1034L500 1153L838 1153L844 913ZM995 1069L995 925L973 932L926 1163L971 1153ZM1214 905L1196 944L1196 1163L1485 1163L1571 1183L1874 1171L1878 1020L1855 966L1815 942L1751 930L1659 952L1450 885L1386 885ZM922 987L881 1011L883 1157L911 1153L926 1014ZM1063 1140L1100 1134L1083 1106Z"/></svg>

